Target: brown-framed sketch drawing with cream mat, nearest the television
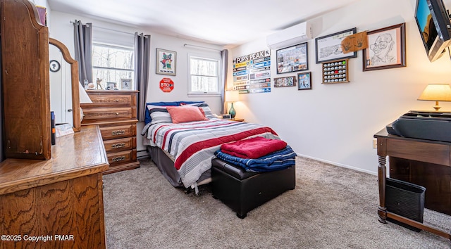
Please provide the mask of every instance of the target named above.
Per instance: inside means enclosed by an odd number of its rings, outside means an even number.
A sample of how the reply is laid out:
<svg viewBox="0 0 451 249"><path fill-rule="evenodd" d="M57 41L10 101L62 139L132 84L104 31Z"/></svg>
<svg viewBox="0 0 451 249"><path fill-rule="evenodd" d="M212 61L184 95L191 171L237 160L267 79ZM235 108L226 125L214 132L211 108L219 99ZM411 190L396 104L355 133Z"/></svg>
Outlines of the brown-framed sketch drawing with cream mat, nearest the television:
<svg viewBox="0 0 451 249"><path fill-rule="evenodd" d="M368 49L363 50L363 70L406 66L406 24L368 32Z"/></svg>

